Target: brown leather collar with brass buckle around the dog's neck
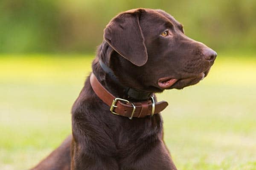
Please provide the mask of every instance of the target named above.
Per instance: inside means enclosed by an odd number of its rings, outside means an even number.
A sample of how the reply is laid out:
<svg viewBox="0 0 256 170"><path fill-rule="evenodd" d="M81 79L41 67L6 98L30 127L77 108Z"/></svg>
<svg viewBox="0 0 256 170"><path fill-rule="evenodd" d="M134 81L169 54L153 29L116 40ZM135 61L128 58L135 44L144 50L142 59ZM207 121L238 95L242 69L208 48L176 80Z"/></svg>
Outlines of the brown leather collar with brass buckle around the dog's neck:
<svg viewBox="0 0 256 170"><path fill-rule="evenodd" d="M155 103L153 96L151 100L142 102L129 102L125 99L116 98L102 86L93 73L90 75L90 84L96 95L102 99L105 104L110 106L110 111L113 114L129 117L129 119L133 117L143 118L145 116L153 116L163 111L168 105L166 101Z"/></svg>

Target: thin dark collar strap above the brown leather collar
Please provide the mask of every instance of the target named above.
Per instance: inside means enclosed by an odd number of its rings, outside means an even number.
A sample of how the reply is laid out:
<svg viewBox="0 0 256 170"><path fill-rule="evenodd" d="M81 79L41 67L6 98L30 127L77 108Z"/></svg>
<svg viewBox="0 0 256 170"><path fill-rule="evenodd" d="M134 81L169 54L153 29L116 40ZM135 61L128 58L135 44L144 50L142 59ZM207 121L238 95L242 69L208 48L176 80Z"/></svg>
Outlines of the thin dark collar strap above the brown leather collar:
<svg viewBox="0 0 256 170"><path fill-rule="evenodd" d="M114 72L111 70L111 68L108 67L108 65L106 65L105 63L102 62L102 60L99 60L99 64L102 67L103 71L105 71L106 74L108 74L110 76L110 78L119 86L121 86L124 91L125 91L125 95L128 98L131 99L136 99L136 100L146 100L146 99L150 99L150 96L152 95L152 93L150 92L145 92L145 91L138 91L134 88L130 88L130 87L126 87L124 85L122 85L119 80L117 79L117 77L115 76Z"/></svg>

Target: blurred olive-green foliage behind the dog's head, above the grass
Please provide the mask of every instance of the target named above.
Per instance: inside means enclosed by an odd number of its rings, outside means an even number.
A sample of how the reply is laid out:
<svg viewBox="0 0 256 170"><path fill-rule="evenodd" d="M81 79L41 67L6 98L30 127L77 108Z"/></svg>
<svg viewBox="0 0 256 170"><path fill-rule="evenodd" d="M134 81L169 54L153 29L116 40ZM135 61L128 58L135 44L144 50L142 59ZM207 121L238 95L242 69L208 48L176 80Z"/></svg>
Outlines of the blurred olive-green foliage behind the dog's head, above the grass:
<svg viewBox="0 0 256 170"><path fill-rule="evenodd" d="M256 47L255 0L1 0L0 52L91 52L112 17L139 7L165 10L215 50Z"/></svg>

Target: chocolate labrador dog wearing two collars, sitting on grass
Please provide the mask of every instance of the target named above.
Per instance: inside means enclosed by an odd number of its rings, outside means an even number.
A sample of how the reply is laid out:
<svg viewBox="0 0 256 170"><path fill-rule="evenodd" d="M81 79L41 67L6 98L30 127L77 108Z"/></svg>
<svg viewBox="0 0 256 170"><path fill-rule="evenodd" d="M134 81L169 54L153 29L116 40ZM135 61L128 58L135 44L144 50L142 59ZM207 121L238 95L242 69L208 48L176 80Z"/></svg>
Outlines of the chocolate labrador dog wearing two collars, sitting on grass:
<svg viewBox="0 0 256 170"><path fill-rule="evenodd" d="M207 76L217 54L162 10L114 17L72 108L72 136L34 170L176 170L154 93Z"/></svg>

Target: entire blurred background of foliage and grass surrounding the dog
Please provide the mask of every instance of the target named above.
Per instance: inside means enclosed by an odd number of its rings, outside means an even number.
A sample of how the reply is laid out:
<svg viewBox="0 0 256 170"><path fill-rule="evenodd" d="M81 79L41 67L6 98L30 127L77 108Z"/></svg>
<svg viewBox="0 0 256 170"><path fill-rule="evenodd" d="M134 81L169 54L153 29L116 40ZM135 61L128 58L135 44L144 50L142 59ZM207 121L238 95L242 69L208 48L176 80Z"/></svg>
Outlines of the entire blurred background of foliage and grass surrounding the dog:
<svg viewBox="0 0 256 170"><path fill-rule="evenodd" d="M255 0L1 0L0 170L29 169L71 133L70 110L117 13L161 8L218 52L208 77L159 94L179 170L256 170Z"/></svg>

